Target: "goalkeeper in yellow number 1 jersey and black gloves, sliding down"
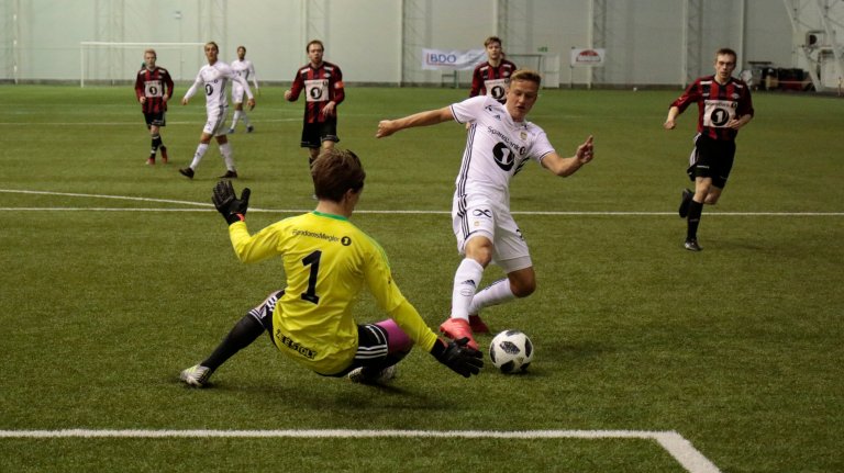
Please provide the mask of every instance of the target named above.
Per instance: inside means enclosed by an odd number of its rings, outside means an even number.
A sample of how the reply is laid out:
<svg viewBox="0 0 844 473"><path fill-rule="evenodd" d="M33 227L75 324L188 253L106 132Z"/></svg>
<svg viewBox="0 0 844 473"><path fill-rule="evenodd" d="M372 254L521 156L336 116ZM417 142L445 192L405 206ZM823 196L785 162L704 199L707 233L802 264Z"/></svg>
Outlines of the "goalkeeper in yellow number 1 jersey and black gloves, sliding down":
<svg viewBox="0 0 844 473"><path fill-rule="evenodd" d="M467 338L446 342L429 328L396 286L384 249L348 218L360 199L366 173L348 150L326 149L311 169L316 209L249 235L244 216L249 190L236 198L231 181L220 181L213 202L229 223L242 262L281 257L287 284L249 311L206 360L180 374L204 386L211 374L265 330L279 351L326 376L382 383L417 345L469 378L484 365ZM390 318L360 324L352 314L366 286Z"/></svg>

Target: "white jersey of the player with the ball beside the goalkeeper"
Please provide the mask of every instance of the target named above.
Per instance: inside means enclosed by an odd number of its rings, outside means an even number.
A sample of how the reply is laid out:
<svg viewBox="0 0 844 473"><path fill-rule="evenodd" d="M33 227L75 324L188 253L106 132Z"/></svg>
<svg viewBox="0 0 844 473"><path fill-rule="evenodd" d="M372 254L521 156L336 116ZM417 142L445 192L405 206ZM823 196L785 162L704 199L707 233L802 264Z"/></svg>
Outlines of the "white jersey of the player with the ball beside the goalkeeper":
<svg viewBox="0 0 844 473"><path fill-rule="evenodd" d="M475 198L510 206L510 180L529 159L536 162L554 147L545 132L531 122L513 122L507 108L490 95L451 105L454 120L470 123L460 172L455 181L456 212Z"/></svg>

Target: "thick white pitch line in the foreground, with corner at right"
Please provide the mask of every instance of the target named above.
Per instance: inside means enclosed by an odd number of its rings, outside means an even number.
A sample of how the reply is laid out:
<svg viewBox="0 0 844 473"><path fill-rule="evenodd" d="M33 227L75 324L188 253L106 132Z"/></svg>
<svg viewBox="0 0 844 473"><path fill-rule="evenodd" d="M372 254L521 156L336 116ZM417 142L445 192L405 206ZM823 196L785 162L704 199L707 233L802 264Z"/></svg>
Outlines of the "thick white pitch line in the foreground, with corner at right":
<svg viewBox="0 0 844 473"><path fill-rule="evenodd" d="M721 470L676 431L644 430L0 430L0 438L473 438L473 439L642 439L655 440L689 473Z"/></svg>

